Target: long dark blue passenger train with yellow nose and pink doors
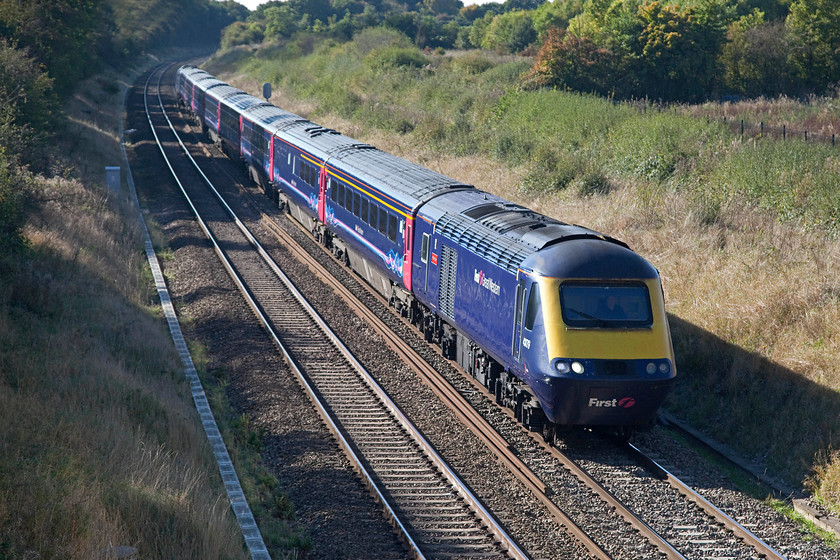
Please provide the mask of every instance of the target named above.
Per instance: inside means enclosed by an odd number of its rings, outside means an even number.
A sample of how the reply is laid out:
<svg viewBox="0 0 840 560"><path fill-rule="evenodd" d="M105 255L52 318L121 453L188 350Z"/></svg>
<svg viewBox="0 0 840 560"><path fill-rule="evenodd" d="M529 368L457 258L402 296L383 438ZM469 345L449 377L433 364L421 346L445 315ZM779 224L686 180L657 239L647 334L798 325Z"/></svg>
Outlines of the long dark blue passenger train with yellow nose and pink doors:
<svg viewBox="0 0 840 560"><path fill-rule="evenodd" d="M186 65L179 103L256 186L528 429L653 425L676 378L625 243L378 150Z"/></svg>

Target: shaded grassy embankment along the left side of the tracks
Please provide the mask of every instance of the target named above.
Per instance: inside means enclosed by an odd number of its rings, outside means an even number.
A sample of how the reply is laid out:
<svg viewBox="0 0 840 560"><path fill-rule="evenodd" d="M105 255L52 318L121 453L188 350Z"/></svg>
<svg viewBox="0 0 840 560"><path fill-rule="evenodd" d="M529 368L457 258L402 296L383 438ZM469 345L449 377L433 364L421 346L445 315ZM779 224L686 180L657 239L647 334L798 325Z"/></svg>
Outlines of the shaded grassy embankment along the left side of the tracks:
<svg viewBox="0 0 840 560"><path fill-rule="evenodd" d="M0 256L0 558L247 556L136 209L104 185L121 161L123 80L91 79L69 100L55 176L29 179L28 246ZM261 474L244 473L246 491L270 485Z"/></svg>

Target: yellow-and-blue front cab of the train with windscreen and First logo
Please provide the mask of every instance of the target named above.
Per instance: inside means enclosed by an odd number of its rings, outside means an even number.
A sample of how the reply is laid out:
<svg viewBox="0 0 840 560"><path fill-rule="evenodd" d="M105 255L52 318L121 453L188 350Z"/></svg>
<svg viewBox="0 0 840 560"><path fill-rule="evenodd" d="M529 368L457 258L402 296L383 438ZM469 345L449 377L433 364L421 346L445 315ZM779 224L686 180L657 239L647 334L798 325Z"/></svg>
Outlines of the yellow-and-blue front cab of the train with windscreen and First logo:
<svg viewBox="0 0 840 560"><path fill-rule="evenodd" d="M549 421L649 425L676 373L656 269L598 238L565 241L529 261L514 357Z"/></svg>

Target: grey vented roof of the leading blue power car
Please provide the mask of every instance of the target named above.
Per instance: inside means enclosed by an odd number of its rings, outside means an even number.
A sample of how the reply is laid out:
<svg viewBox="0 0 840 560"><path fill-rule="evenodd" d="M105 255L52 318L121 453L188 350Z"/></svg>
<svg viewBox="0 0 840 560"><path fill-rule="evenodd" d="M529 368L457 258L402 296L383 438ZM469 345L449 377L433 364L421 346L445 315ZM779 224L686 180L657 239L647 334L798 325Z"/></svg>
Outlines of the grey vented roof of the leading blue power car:
<svg viewBox="0 0 840 560"><path fill-rule="evenodd" d="M600 243L635 255L620 241L479 190L437 196L421 207L418 217L434 224L436 233L512 273L525 268L547 276L561 275L556 267L547 266L552 259L535 255L574 240L594 241L589 250ZM544 254L549 253L557 254Z"/></svg>

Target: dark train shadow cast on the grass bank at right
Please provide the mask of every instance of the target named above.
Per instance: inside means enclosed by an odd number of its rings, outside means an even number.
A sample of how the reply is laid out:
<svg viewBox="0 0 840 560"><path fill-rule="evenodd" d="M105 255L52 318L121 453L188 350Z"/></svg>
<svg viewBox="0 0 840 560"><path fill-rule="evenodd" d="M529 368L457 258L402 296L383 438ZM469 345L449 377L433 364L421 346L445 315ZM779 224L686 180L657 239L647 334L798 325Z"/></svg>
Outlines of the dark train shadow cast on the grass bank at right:
<svg viewBox="0 0 840 560"><path fill-rule="evenodd" d="M814 458L840 444L840 394L678 317L669 320L677 382L665 408L798 488Z"/></svg>

